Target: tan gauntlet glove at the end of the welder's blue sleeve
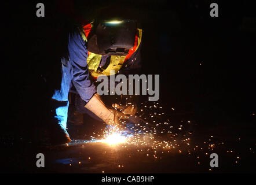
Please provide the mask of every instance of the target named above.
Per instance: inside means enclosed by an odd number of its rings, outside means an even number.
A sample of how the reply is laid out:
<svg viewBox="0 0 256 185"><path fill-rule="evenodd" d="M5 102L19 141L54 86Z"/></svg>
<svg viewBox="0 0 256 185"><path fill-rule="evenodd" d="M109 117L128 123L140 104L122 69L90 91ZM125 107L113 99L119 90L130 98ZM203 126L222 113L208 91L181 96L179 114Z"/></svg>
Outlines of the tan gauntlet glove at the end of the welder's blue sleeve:
<svg viewBox="0 0 256 185"><path fill-rule="evenodd" d="M94 94L89 102L86 103L85 108L92 111L108 125L121 124L119 121L119 116L115 115L114 110L108 109L105 106L98 93Z"/></svg>

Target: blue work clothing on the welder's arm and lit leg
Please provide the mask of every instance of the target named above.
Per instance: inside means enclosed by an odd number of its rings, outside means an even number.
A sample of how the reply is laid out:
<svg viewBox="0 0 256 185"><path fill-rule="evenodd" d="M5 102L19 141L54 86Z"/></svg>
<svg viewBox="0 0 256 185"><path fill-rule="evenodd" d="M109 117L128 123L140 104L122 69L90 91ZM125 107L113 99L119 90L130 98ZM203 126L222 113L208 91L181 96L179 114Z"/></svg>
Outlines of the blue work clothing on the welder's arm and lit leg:
<svg viewBox="0 0 256 185"><path fill-rule="evenodd" d="M96 93L96 87L89 76L87 66L87 46L79 30L68 35L68 60L61 58L61 86L54 90L52 99L56 101L54 118L65 130L68 119L68 92L71 84L83 99L88 102ZM53 110L54 111L54 110Z"/></svg>

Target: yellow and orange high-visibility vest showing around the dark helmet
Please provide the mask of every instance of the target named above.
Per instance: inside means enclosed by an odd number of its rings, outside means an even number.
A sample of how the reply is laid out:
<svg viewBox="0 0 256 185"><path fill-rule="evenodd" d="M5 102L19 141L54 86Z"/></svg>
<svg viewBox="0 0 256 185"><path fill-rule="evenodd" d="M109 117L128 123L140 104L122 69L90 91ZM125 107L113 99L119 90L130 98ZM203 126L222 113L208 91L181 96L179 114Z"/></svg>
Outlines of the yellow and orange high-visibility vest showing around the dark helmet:
<svg viewBox="0 0 256 185"><path fill-rule="evenodd" d="M89 35L91 29L92 29L92 24L87 24L83 26L83 29L79 28L81 35L83 37L83 40L85 40L85 42L87 42L87 36ZM127 54L127 56L111 56L109 65L106 69L104 69L104 71L97 70L98 66L100 65L102 55L95 54L88 51L87 64L88 64L89 72L92 78L96 80L99 75L109 76L111 70L115 70L115 73L118 73L123 63L127 61L140 46L141 38L142 38L142 29L137 28L134 46L129 50L129 53Z"/></svg>

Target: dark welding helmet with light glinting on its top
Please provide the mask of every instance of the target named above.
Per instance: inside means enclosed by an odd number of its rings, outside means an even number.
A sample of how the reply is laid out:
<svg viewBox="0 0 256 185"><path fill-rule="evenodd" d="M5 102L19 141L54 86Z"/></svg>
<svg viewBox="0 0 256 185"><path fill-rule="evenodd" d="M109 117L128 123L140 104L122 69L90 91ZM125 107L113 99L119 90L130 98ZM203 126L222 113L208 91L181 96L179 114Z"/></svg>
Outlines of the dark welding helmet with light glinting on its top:
<svg viewBox="0 0 256 185"><path fill-rule="evenodd" d="M88 51L107 56L126 56L134 46L137 23L134 20L100 21L93 25Z"/></svg>

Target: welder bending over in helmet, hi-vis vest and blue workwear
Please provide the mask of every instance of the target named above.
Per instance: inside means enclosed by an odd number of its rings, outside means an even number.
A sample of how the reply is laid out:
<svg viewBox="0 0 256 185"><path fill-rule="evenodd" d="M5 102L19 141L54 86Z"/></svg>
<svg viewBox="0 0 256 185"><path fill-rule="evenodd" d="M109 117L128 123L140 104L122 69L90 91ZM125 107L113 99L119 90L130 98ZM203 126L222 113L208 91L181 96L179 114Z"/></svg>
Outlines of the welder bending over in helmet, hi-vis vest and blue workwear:
<svg viewBox="0 0 256 185"><path fill-rule="evenodd" d="M61 58L61 86L52 97L52 143L71 142L66 130L70 90L81 98L82 109L106 124L119 123L97 94L93 80L99 75L109 76L111 70L128 74L140 68L141 38L142 30L134 20L97 20L70 31L68 56ZM126 110L134 114L134 109Z"/></svg>

